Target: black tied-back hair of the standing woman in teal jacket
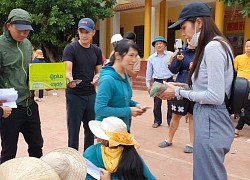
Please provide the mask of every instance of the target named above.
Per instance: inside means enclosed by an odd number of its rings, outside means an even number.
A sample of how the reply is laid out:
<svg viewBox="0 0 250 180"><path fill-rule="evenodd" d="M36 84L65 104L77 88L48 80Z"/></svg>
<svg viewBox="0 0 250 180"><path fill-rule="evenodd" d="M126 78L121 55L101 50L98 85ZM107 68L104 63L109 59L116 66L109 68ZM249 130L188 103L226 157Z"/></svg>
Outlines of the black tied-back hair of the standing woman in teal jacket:
<svg viewBox="0 0 250 180"><path fill-rule="evenodd" d="M115 53L117 52L119 55L121 55L122 57L124 57L128 51L129 48L133 48L135 50L139 50L138 46L136 45L136 43L134 43L131 40L128 39L122 39L121 41L118 41L116 43L115 49L114 49L114 53L112 54L112 56L110 57L110 61L108 63L108 65L113 66L113 64L115 63Z"/></svg>

